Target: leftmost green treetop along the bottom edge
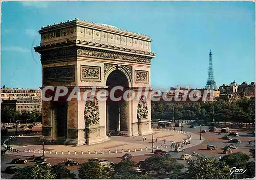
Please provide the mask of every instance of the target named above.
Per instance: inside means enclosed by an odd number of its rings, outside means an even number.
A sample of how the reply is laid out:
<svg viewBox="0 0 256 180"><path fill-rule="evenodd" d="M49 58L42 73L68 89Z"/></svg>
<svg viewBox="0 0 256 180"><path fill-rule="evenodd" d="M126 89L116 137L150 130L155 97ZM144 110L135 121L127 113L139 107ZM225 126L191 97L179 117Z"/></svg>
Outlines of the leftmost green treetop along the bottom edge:
<svg viewBox="0 0 256 180"><path fill-rule="evenodd" d="M18 169L13 179L54 179L55 175L47 166L26 166Z"/></svg>

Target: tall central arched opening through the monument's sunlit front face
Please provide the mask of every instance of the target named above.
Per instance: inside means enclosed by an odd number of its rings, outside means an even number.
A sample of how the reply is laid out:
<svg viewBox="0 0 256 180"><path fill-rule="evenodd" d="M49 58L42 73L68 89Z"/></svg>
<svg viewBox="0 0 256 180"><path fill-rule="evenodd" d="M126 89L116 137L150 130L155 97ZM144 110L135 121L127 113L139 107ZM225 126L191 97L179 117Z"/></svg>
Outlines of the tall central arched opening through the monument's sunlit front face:
<svg viewBox="0 0 256 180"><path fill-rule="evenodd" d="M115 97L122 97L123 92L129 87L129 78L119 69L111 71L106 78L106 86L110 93L113 88L120 86L123 90L116 90ZM112 132L112 135L117 135L120 132L128 132L129 122L127 122L127 108L129 102L121 98L119 101L114 101L110 97L106 101L106 132Z"/></svg>

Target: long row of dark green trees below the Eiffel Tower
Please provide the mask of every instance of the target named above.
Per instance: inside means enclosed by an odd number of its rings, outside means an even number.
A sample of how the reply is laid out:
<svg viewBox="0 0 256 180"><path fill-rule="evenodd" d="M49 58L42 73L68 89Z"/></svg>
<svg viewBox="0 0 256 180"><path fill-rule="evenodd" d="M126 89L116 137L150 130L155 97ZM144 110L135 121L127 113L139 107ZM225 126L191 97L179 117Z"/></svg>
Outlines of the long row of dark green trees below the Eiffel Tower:
<svg viewBox="0 0 256 180"><path fill-rule="evenodd" d="M218 100L205 104L172 105L168 102L152 102L152 119L212 120L253 123L255 103L247 98L227 102Z"/></svg>

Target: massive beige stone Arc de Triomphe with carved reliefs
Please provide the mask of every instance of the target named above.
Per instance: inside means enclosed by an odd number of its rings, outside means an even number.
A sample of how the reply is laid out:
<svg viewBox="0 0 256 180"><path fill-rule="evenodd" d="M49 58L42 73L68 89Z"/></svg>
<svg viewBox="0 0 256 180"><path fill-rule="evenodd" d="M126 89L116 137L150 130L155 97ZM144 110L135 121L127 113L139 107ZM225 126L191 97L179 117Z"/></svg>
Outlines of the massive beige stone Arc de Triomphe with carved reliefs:
<svg viewBox="0 0 256 180"><path fill-rule="evenodd" d="M40 46L42 88L79 87L83 94L115 86L150 87L151 39L106 24L75 19L42 27ZM54 91L46 91L53 94ZM82 96L82 95L81 95ZM108 140L107 133L122 136L151 134L150 96L131 101L42 101L42 133L45 139L83 145ZM143 112L143 113L142 113Z"/></svg>

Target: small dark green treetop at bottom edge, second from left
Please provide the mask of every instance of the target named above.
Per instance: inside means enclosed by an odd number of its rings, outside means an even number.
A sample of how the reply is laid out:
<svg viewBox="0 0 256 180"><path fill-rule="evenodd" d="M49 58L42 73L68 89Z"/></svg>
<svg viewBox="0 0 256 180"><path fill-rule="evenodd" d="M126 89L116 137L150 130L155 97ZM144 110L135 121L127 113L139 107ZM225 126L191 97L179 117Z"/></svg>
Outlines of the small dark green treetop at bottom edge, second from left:
<svg viewBox="0 0 256 180"><path fill-rule="evenodd" d="M55 175L56 179L74 179L75 174L66 167L61 165L55 165L51 167L52 174Z"/></svg>

